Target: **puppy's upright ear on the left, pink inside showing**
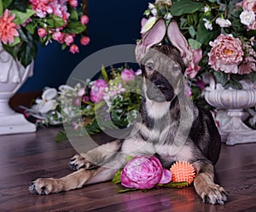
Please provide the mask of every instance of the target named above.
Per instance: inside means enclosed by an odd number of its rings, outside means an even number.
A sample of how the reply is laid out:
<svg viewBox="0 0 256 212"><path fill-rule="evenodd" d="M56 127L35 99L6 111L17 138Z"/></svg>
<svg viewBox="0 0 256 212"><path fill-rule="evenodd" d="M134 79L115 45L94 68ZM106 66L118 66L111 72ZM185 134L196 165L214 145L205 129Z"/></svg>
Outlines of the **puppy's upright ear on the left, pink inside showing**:
<svg viewBox="0 0 256 212"><path fill-rule="evenodd" d="M137 61L140 62L144 55L148 53L148 49L164 39L166 35L166 21L164 19L157 20L154 26L143 36L143 39L137 43L135 49Z"/></svg>

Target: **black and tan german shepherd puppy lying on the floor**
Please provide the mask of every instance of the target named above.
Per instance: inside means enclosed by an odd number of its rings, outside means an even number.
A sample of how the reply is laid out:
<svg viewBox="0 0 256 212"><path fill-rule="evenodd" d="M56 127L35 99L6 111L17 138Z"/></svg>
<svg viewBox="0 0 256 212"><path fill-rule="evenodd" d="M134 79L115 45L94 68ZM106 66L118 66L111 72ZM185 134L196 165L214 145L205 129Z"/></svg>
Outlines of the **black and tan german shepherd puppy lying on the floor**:
<svg viewBox="0 0 256 212"><path fill-rule="evenodd" d="M166 33L167 32L167 33ZM169 44L160 43L167 39ZM164 167L176 161L196 169L195 191L204 203L224 204L227 193L214 183L214 168L221 140L212 114L184 97L183 72L191 54L189 45L172 20L158 20L137 44L137 61L143 71L142 121L131 135L98 146L71 158L73 174L61 179L32 181L32 193L47 195L111 180L125 166L127 155L155 155Z"/></svg>

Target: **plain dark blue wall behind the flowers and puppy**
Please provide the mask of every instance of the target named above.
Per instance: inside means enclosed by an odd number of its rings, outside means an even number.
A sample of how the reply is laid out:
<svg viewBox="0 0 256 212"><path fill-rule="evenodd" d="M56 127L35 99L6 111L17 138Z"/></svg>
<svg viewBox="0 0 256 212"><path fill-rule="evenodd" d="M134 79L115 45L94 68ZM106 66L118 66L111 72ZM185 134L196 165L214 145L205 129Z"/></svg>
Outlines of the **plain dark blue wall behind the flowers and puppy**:
<svg viewBox="0 0 256 212"><path fill-rule="evenodd" d="M56 88L66 83L73 69L88 55L113 45L135 44L140 37L141 19L149 2L154 1L88 0L90 44L81 47L79 54L61 51L61 46L57 44L39 48L34 74L20 92L38 91L45 86Z"/></svg>

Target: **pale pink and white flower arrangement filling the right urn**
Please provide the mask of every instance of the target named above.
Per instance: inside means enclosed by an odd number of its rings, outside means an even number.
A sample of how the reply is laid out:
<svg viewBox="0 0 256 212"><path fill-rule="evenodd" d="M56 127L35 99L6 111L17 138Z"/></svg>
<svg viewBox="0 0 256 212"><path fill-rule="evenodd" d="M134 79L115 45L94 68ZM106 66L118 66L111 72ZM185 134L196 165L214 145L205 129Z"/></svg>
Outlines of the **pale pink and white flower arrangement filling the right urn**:
<svg viewBox="0 0 256 212"><path fill-rule="evenodd" d="M215 89L217 83L224 89L246 89L246 83L256 82L255 6L255 0L156 0L148 3L141 33L160 18L166 24L177 20L191 52L185 95L214 109L204 99L206 89ZM255 127L254 109L248 111L251 127Z"/></svg>

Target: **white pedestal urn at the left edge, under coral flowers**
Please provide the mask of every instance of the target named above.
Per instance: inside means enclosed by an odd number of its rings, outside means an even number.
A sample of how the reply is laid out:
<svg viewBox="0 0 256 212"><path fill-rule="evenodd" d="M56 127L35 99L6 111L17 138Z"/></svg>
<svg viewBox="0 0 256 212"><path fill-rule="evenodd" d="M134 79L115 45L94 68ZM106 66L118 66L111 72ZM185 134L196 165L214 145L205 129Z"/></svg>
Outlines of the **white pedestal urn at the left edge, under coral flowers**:
<svg viewBox="0 0 256 212"><path fill-rule="evenodd" d="M0 43L0 135L31 133L36 126L9 106L9 99L32 76L33 63L24 68Z"/></svg>

